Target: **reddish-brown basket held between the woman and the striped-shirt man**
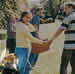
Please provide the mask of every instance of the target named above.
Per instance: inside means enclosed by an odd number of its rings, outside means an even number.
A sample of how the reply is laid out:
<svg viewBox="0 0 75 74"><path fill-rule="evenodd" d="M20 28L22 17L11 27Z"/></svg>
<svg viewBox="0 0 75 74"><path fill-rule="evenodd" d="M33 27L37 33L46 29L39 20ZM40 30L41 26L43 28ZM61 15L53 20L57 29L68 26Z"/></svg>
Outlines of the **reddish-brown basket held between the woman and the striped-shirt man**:
<svg viewBox="0 0 75 74"><path fill-rule="evenodd" d="M34 54L39 54L43 53L49 50L49 45L48 44L37 44L37 43L32 43L32 53Z"/></svg>

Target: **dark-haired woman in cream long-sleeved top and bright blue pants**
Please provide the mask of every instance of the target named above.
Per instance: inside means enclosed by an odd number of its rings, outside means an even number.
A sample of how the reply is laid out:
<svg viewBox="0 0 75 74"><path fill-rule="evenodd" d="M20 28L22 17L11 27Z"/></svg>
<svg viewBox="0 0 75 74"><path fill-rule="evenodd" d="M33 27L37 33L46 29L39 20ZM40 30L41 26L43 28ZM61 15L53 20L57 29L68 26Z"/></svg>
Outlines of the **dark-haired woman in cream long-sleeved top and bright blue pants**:
<svg viewBox="0 0 75 74"><path fill-rule="evenodd" d="M30 22L29 12L23 12L21 15L21 21L16 24L16 50L15 53L19 58L18 71L20 74L26 74L25 67L27 65L28 52L31 49L31 43L36 42L43 44L42 40L34 38L28 28Z"/></svg>

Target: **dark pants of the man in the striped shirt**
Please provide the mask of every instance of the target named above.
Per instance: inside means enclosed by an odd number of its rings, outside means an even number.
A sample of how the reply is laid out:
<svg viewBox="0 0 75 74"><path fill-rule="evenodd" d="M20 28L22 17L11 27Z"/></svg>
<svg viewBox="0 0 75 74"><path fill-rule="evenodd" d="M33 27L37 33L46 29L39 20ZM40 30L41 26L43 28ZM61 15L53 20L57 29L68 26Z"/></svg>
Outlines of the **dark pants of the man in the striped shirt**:
<svg viewBox="0 0 75 74"><path fill-rule="evenodd" d="M69 62L72 68L71 74L75 74L75 50L64 49L61 57L60 74L67 74L67 66Z"/></svg>

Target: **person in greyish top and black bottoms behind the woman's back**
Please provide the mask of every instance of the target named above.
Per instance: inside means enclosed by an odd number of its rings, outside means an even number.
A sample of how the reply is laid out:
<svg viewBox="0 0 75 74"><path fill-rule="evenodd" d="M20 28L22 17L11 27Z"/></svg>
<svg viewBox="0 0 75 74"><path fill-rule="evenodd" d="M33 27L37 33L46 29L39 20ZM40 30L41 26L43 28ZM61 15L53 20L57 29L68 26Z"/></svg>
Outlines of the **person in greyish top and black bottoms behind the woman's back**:
<svg viewBox="0 0 75 74"><path fill-rule="evenodd" d="M9 53L14 53L16 48L16 18L14 15L9 16L7 28L6 49Z"/></svg>

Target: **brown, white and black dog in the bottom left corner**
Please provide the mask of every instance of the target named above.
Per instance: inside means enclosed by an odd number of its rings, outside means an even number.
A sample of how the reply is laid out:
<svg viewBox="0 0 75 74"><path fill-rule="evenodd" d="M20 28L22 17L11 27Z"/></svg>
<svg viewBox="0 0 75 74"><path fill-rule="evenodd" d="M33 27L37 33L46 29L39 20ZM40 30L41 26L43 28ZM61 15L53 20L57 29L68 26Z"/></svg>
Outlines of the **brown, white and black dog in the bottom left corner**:
<svg viewBox="0 0 75 74"><path fill-rule="evenodd" d="M19 74L17 71L17 56L15 54L9 54L3 59L5 65L2 74Z"/></svg>

